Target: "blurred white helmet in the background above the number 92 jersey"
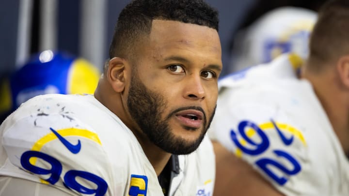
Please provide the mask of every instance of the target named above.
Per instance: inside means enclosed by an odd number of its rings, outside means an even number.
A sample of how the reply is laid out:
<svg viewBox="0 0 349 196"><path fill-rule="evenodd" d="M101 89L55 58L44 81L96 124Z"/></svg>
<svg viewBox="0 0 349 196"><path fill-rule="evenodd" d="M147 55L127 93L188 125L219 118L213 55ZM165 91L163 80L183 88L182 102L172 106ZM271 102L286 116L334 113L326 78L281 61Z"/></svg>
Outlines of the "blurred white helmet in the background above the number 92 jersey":
<svg viewBox="0 0 349 196"><path fill-rule="evenodd" d="M237 33L230 72L270 62L288 52L306 58L316 18L316 12L300 7L280 7L266 13Z"/></svg>

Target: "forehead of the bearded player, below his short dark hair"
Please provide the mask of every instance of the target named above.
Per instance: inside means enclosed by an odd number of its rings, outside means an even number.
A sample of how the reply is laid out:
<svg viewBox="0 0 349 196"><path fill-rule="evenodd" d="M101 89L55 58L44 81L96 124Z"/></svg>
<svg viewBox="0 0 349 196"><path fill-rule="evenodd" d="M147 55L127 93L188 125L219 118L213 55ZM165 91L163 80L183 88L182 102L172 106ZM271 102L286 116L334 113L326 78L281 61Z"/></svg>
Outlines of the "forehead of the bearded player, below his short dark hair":
<svg viewBox="0 0 349 196"><path fill-rule="evenodd" d="M221 61L222 58L218 32L206 26L172 20L153 20L148 40L144 50L146 53L151 52L153 57L182 54L216 61Z"/></svg>

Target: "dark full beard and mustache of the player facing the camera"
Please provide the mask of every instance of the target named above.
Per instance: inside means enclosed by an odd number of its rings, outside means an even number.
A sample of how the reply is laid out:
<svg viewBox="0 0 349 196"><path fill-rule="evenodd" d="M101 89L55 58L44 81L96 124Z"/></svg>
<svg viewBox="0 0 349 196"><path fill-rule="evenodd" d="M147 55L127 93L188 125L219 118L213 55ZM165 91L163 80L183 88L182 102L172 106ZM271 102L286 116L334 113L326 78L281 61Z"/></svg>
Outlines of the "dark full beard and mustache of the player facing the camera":
<svg viewBox="0 0 349 196"><path fill-rule="evenodd" d="M189 154L195 151L199 147L211 124L215 109L207 124L204 110L201 107L195 106L177 108L162 120L161 114L164 112L166 106L167 102L161 94L147 89L139 78L137 78L135 74L132 74L130 89L127 96L127 107L131 117L137 122L143 133L156 146L171 154ZM175 113L186 109L196 109L204 114L204 128L200 136L192 142L186 141L185 138L174 136L169 126L170 118L173 117ZM188 131L193 131L191 127L183 126L183 128Z"/></svg>

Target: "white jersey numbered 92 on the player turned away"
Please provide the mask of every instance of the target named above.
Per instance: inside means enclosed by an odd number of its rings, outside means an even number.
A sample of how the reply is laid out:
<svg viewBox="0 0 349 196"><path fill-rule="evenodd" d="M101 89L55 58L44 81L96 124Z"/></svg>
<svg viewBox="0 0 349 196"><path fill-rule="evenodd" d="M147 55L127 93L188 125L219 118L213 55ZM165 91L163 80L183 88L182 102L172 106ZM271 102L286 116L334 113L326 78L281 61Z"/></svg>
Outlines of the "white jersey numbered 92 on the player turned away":
<svg viewBox="0 0 349 196"><path fill-rule="evenodd" d="M223 78L210 137L287 196L348 196L348 159L292 59L282 55Z"/></svg>

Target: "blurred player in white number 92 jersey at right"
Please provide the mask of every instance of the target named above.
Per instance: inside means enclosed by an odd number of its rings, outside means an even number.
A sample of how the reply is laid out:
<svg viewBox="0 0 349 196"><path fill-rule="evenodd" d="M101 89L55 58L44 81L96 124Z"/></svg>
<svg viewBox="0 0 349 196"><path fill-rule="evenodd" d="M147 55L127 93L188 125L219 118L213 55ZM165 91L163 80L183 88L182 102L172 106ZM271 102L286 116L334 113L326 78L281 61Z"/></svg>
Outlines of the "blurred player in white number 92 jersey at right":
<svg viewBox="0 0 349 196"><path fill-rule="evenodd" d="M319 12L298 79L293 54L220 81L215 195L349 195L349 1Z"/></svg>

